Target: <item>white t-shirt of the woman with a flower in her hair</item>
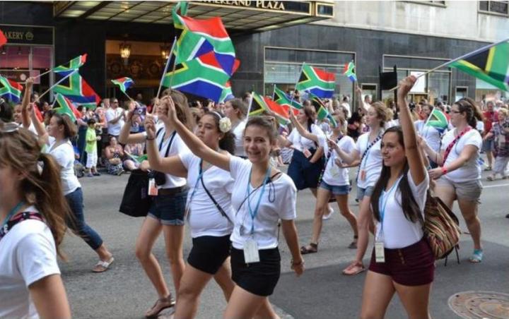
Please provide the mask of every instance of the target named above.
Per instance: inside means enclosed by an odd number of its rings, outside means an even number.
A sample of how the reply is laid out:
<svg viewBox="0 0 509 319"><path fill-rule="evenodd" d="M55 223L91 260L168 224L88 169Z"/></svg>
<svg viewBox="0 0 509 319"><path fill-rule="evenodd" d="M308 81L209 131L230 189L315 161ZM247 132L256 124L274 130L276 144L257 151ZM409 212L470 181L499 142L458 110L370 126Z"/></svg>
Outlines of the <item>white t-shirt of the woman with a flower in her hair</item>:
<svg viewBox="0 0 509 319"><path fill-rule="evenodd" d="M187 168L187 185L189 193L189 226L191 236L227 236L232 233L233 224L221 215L221 212L213 204L209 195L204 190L201 181L198 181L200 158L191 152L179 154L180 161ZM231 193L235 182L229 171L212 166L203 173L203 182L212 197L226 212L233 222L233 208L231 206ZM194 191L194 187L197 187ZM192 193L194 195L191 198Z"/></svg>

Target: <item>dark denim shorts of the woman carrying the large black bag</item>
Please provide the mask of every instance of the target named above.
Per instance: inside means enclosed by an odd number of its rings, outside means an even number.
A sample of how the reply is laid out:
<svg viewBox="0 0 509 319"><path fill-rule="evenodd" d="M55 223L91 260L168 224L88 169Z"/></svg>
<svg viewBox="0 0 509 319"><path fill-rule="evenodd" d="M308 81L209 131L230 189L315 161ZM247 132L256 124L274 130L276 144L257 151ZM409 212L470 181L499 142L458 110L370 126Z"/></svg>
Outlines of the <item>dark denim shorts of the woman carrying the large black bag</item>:
<svg viewBox="0 0 509 319"><path fill-rule="evenodd" d="M152 200L148 215L163 225L183 226L187 191L172 195L157 195Z"/></svg>

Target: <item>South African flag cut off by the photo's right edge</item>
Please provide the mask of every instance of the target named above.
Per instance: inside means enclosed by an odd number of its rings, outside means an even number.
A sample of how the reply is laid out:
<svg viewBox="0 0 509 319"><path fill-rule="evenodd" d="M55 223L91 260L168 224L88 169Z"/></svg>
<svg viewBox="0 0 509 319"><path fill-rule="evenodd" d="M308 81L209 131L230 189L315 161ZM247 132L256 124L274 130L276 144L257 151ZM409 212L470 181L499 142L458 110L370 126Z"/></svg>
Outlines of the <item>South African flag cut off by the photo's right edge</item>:
<svg viewBox="0 0 509 319"><path fill-rule="evenodd" d="M448 66L509 92L509 40L452 61Z"/></svg>

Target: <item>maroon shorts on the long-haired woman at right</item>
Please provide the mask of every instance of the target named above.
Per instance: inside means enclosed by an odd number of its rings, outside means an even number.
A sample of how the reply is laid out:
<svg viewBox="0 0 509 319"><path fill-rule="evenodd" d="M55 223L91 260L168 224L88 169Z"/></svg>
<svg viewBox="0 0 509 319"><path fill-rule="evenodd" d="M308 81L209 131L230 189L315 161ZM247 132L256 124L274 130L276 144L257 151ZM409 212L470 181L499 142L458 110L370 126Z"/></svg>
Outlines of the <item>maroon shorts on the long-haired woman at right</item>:
<svg viewBox="0 0 509 319"><path fill-rule="evenodd" d="M385 263L375 261L373 248L369 270L390 276L394 282L404 286L420 286L433 282L435 257L428 241L423 237L404 248L385 248Z"/></svg>

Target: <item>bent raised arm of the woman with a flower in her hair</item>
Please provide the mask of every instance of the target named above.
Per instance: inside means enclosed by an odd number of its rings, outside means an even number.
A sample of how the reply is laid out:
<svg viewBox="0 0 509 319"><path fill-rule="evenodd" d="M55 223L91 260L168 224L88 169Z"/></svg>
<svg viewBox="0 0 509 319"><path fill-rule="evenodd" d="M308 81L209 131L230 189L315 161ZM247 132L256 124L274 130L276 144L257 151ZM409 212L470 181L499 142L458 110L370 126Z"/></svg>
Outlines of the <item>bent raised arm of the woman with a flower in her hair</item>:
<svg viewBox="0 0 509 319"><path fill-rule="evenodd" d="M163 173L172 174L179 177L187 177L187 169L180 160L180 157L160 157L156 143L156 124L153 116L147 114L145 119L145 129L147 134L146 150L148 155L148 163L151 169L162 171Z"/></svg>

